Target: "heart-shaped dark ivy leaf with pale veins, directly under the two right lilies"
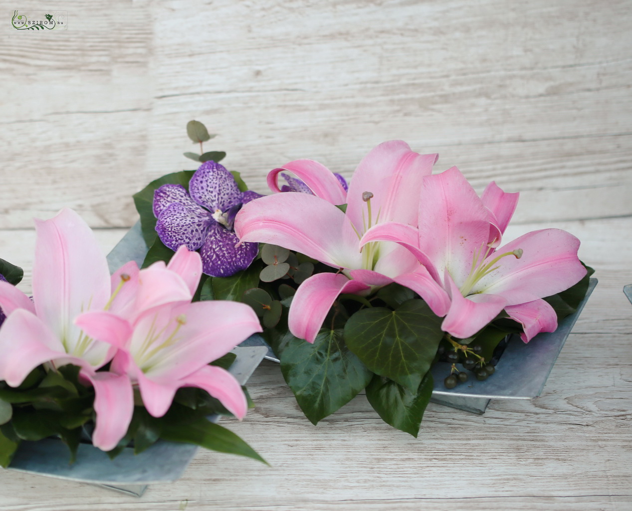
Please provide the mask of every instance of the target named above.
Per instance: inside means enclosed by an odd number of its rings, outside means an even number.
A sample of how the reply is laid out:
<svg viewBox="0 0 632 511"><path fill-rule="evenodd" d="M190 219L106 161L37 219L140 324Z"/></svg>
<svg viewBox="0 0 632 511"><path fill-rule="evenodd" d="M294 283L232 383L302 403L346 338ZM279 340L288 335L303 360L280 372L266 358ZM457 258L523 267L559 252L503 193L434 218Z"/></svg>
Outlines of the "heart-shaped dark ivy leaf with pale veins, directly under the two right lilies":
<svg viewBox="0 0 632 511"><path fill-rule="evenodd" d="M344 340L368 369L415 392L434 360L441 323L426 302L408 300L395 311L356 312L344 326Z"/></svg>

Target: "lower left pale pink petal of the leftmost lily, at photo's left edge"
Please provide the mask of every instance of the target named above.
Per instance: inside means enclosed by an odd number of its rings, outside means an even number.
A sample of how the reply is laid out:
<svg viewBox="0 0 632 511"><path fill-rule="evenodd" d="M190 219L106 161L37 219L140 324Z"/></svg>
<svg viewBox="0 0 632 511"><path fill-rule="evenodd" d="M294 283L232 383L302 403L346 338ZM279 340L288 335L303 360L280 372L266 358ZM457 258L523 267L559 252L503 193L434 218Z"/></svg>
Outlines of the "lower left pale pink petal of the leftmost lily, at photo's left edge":
<svg viewBox="0 0 632 511"><path fill-rule="evenodd" d="M0 329L0 380L16 387L35 367L51 361L58 367L75 364L92 371L88 362L65 352L59 338L39 317L16 309Z"/></svg>

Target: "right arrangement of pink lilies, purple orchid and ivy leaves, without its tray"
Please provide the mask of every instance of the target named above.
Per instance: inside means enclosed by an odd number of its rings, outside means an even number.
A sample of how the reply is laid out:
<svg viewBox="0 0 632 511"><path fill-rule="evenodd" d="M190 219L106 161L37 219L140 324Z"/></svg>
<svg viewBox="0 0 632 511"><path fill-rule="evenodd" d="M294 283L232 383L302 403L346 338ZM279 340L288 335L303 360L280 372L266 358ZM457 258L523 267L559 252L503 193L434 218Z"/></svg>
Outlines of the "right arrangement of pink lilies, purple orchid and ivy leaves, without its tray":
<svg viewBox="0 0 632 511"><path fill-rule="evenodd" d="M224 152L204 152L202 123L187 132L201 154L185 156L202 165L135 195L145 265L199 250L200 299L252 307L313 424L365 390L416 436L435 362L451 364L447 388L488 378L507 335L554 331L588 289L577 238L545 229L503 245L518 194L492 182L479 197L456 167L433 175L436 154L384 142L348 185L291 161L262 196L219 163Z"/></svg>

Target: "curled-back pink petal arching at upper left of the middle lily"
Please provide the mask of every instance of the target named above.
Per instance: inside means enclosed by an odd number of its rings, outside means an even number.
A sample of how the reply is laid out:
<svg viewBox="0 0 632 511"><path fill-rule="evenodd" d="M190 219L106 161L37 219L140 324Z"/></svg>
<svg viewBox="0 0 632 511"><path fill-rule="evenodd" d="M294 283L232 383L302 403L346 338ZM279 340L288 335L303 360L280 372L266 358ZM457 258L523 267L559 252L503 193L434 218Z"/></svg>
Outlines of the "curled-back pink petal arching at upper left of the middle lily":
<svg viewBox="0 0 632 511"><path fill-rule="evenodd" d="M343 185L336 178L334 173L317 161L303 159L295 160L285 164L282 168L270 171L267 177L268 186L274 193L281 192L279 188L279 173L289 171L307 185L314 195L331 202L331 204L345 204L347 193Z"/></svg>

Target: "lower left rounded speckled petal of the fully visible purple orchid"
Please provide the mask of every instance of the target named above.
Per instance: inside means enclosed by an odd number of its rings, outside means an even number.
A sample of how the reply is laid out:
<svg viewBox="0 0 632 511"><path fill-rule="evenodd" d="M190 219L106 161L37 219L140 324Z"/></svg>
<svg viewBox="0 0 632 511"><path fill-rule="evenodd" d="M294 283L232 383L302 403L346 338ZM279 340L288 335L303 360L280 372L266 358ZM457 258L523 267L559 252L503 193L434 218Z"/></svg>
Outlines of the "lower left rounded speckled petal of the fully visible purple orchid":
<svg viewBox="0 0 632 511"><path fill-rule="evenodd" d="M156 232L171 250L178 250L180 245L197 250L204 244L209 227L215 223L204 208L197 206L190 209L173 202L161 211L156 221Z"/></svg>

